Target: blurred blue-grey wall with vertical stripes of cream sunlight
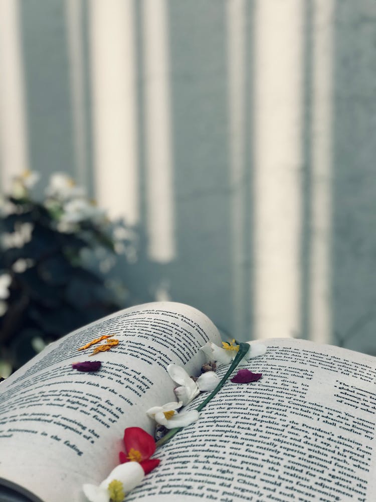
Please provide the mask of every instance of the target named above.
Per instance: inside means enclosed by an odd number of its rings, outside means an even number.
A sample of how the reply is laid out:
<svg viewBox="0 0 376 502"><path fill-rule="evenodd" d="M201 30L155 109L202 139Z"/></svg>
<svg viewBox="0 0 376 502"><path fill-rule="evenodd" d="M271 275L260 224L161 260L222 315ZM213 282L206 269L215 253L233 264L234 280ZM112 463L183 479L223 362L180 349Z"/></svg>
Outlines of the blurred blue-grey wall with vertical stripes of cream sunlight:
<svg viewBox="0 0 376 502"><path fill-rule="evenodd" d="M1 0L0 181L138 228L130 303L376 353L374 0Z"/></svg>

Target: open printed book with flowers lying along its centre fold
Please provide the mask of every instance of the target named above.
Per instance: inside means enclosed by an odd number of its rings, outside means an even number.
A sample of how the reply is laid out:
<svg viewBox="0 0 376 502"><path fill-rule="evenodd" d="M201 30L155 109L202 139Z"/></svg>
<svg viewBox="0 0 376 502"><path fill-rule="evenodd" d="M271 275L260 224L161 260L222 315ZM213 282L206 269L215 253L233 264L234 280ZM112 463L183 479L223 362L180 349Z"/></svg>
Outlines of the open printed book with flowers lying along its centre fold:
<svg viewBox="0 0 376 502"><path fill-rule="evenodd" d="M119 339L110 351L77 351L106 334ZM83 502L82 485L118 464L124 428L153 434L145 411L176 400L166 366L200 374L209 340L221 345L204 314L162 302L49 345L0 384L0 500ZM266 345L243 366L262 379L228 381L196 423L158 448L159 466L127 502L376 500L376 358L295 339ZM72 369L91 358L99 371Z"/></svg>

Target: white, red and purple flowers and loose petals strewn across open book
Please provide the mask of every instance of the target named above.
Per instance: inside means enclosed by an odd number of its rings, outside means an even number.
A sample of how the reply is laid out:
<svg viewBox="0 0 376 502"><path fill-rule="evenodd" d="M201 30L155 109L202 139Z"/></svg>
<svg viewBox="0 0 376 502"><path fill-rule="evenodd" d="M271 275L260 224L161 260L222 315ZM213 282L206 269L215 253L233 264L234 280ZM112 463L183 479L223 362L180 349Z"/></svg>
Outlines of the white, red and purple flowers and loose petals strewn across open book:
<svg viewBox="0 0 376 502"><path fill-rule="evenodd" d="M92 343L97 343L98 340L93 340ZM90 345L91 343L88 344L88 346ZM183 427L199 420L200 412L222 389L239 364L244 364L249 359L263 355L266 352L266 347L260 343L238 343L235 339L231 343L223 342L222 348L208 342L201 349L210 359L209 363L203 365L203 374L198 378L193 378L182 367L169 364L166 370L172 381L177 384L174 392L179 401L154 406L146 411L147 415L157 423L156 431L159 426L164 428L165 434L155 442L150 434L139 427L125 429L125 452L121 451L119 453L120 465L116 466L99 485L83 485L84 494L90 502L122 502L125 495L141 483L146 474L159 465L159 459L151 458L155 450L169 441ZM215 356L215 359L213 356ZM79 364L89 363L82 362ZM212 370L217 364L230 364L230 368L222 380ZM90 364L82 369L82 371L93 370L95 369ZM261 373L253 373L249 369L242 368L231 379L231 382L234 384L247 384L257 382L261 377ZM196 410L177 412L183 405L191 403L201 392L209 391L212 391L211 394Z"/></svg>

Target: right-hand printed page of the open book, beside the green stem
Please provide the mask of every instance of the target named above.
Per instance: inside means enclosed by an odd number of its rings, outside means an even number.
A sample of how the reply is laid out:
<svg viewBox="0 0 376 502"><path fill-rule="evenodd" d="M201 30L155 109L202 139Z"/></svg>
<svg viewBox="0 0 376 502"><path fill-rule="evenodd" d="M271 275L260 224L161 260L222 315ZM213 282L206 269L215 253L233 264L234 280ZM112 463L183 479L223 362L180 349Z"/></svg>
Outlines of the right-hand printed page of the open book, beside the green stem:
<svg viewBox="0 0 376 502"><path fill-rule="evenodd" d="M262 379L229 381L156 452L158 469L127 502L375 499L376 358L302 340L266 344L243 366Z"/></svg>

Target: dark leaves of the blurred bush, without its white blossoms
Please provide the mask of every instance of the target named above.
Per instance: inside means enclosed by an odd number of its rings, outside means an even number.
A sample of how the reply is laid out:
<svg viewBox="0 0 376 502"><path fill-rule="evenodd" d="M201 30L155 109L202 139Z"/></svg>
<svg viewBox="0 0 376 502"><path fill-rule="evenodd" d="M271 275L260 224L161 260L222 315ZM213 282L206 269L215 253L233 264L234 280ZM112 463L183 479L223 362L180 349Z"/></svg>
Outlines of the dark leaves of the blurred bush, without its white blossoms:
<svg viewBox="0 0 376 502"><path fill-rule="evenodd" d="M25 224L28 229L21 244L3 238L0 249L0 277L9 281L0 315L0 360L13 370L38 351L35 340L47 344L120 308L103 276L82 261L84 249L113 252L108 225L84 215L62 228L66 201L42 204L26 188L21 197L4 201L1 234L25 234Z"/></svg>

